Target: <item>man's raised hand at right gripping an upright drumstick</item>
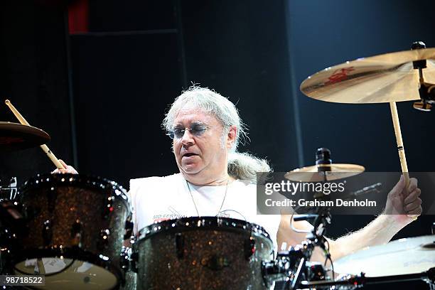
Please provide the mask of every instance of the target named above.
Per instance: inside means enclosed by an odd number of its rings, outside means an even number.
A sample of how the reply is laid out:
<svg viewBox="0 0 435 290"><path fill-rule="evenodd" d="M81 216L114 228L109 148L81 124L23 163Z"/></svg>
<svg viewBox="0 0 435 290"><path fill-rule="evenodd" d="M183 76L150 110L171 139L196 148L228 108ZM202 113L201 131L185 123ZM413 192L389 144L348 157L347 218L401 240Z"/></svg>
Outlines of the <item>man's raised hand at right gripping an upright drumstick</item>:
<svg viewBox="0 0 435 290"><path fill-rule="evenodd" d="M396 186L388 193L384 213L394 215L397 222L402 225L409 224L423 211L419 198L420 193L416 178L409 178L409 187L405 188L405 180L401 176Z"/></svg>

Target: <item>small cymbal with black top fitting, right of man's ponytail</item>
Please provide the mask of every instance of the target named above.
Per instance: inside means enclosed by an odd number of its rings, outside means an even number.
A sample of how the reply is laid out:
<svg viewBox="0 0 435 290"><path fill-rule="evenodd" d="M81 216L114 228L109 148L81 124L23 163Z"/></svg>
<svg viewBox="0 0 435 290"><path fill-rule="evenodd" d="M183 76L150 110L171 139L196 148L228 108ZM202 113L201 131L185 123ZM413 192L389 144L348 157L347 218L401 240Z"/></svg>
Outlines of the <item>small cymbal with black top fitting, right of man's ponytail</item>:
<svg viewBox="0 0 435 290"><path fill-rule="evenodd" d="M330 167L328 171L319 171L319 168L326 166ZM335 181L337 179L355 176L364 171L364 166L356 164L318 164L294 169L284 174L284 177L291 181L299 182Z"/></svg>

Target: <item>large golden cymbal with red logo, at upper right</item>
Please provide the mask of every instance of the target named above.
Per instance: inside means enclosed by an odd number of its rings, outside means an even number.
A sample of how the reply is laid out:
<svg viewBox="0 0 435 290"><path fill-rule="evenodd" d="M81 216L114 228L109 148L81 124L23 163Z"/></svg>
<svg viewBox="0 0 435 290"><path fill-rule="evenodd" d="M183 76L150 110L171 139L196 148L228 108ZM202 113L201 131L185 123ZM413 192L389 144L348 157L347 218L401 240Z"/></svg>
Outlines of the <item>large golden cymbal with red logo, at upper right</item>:
<svg viewBox="0 0 435 290"><path fill-rule="evenodd" d="M425 82L435 83L435 48L358 58L321 70L301 84L308 97L350 104L420 100L419 70L412 62L427 60Z"/></svg>

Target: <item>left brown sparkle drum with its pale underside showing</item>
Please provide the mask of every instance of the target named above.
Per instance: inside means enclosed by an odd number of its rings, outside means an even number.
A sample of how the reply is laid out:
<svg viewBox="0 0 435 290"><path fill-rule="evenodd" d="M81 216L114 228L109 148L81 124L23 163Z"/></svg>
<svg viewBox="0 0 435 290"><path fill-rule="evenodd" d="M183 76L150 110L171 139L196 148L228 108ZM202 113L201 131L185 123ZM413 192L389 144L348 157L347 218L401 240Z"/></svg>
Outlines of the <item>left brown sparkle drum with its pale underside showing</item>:
<svg viewBox="0 0 435 290"><path fill-rule="evenodd" d="M15 274L43 274L43 289L117 289L127 192L104 178L49 174L26 181L27 230L13 253Z"/></svg>

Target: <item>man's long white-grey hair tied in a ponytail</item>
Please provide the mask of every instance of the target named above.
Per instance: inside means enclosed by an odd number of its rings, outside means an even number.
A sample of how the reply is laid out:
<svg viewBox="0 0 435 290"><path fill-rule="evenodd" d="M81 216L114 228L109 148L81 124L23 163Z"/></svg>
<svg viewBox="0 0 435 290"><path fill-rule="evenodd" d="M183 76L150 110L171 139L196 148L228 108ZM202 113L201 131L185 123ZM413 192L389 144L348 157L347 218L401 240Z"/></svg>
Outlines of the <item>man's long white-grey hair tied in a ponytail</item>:
<svg viewBox="0 0 435 290"><path fill-rule="evenodd" d="M207 87L193 85L176 98L171 104L171 108L168 114L166 114L165 119L163 119L163 127L166 131L173 129L173 121L178 111L186 104L193 104L194 108L200 109L208 114L213 114L213 116L218 119L223 127L221 146L225 146L225 136L228 134L230 127L235 126L237 128L235 142L232 144L228 156L228 174L230 174L230 176L256 182L257 172L271 171L266 160L258 159L248 153L237 152L237 146L240 144L240 140L247 139L245 124L243 124L239 112L237 112L235 105L230 102L230 100Z"/></svg>

